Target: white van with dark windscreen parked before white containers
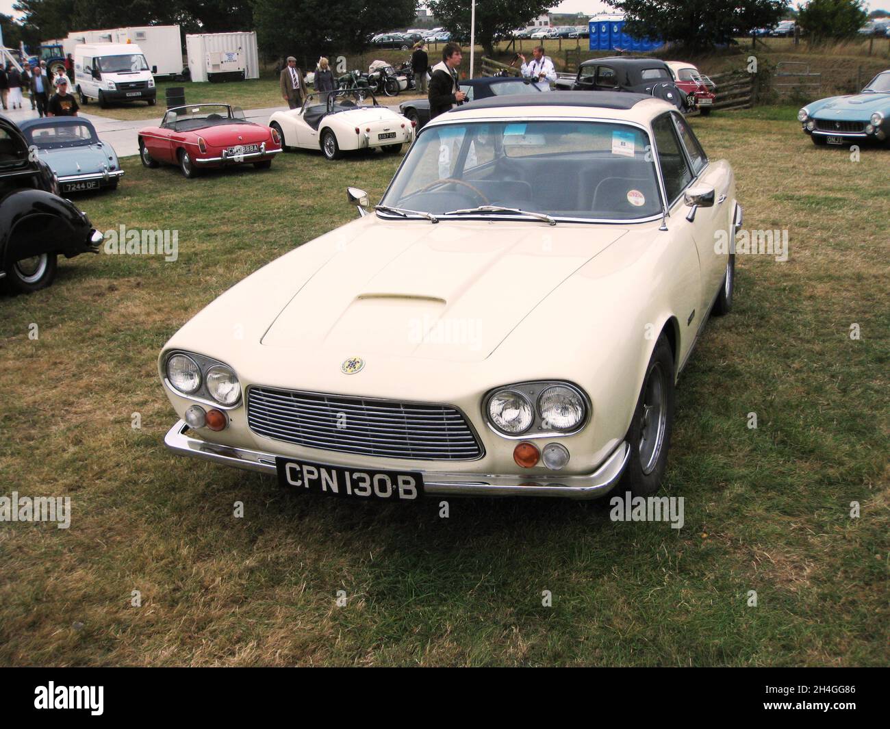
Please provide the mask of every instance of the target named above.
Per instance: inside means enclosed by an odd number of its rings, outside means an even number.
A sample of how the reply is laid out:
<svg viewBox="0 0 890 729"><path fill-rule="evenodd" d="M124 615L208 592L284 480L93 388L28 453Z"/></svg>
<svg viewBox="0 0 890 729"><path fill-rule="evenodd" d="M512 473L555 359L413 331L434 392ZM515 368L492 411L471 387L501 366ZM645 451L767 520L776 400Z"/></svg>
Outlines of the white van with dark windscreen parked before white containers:
<svg viewBox="0 0 890 729"><path fill-rule="evenodd" d="M92 43L74 48L74 90L81 104L98 101L148 101L158 89L142 49L134 43Z"/></svg>

